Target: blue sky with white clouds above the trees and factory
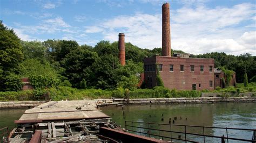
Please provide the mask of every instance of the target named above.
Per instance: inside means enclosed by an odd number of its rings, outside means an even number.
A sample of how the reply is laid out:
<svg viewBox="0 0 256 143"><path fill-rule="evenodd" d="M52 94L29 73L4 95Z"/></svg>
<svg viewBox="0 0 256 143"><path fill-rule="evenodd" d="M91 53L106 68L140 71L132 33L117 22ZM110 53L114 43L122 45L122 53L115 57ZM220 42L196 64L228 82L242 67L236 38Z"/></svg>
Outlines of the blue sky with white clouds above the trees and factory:
<svg viewBox="0 0 256 143"><path fill-rule="evenodd" d="M1 0L0 19L25 41L101 40L161 47L161 5L170 3L171 48L191 54L256 55L256 1Z"/></svg>

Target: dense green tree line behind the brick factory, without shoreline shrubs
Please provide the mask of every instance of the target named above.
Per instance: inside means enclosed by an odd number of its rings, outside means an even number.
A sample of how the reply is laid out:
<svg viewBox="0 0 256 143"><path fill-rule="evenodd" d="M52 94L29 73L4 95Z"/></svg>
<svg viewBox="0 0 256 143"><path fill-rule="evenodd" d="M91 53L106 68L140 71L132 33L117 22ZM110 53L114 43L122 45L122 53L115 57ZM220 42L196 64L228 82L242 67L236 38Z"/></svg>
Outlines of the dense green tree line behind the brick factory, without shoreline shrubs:
<svg viewBox="0 0 256 143"><path fill-rule="evenodd" d="M142 49L125 43L126 65L118 59L118 42L99 41L94 47L78 45L72 40L22 41L13 30L0 21L0 91L19 90L21 77L30 77L33 85L44 82L86 89L136 89L143 59L159 54L161 48ZM182 51L171 51L182 52ZM256 73L255 56L248 53L234 56L225 53L191 55L214 58L215 66L225 66L237 73L242 82L244 73L252 78Z"/></svg>

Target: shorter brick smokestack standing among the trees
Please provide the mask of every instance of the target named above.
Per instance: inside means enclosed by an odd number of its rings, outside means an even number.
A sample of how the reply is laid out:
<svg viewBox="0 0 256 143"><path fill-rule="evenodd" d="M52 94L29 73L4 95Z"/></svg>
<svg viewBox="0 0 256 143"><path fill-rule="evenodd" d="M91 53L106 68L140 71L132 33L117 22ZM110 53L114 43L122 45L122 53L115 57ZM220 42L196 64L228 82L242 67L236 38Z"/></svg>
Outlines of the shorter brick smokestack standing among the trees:
<svg viewBox="0 0 256 143"><path fill-rule="evenodd" d="M118 49L119 49L119 60L122 66L125 65L125 42L124 33L118 34Z"/></svg>

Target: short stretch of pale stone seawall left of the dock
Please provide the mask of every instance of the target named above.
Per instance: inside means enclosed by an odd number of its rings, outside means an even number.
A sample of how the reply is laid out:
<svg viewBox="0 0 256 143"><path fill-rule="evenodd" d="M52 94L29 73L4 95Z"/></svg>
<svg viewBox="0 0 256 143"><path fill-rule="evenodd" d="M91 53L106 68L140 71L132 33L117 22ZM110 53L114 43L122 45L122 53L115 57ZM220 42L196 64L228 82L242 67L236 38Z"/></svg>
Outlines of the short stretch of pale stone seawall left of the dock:
<svg viewBox="0 0 256 143"><path fill-rule="evenodd" d="M5 108L28 108L38 106L45 101L10 101L10 102L0 102L0 109Z"/></svg>

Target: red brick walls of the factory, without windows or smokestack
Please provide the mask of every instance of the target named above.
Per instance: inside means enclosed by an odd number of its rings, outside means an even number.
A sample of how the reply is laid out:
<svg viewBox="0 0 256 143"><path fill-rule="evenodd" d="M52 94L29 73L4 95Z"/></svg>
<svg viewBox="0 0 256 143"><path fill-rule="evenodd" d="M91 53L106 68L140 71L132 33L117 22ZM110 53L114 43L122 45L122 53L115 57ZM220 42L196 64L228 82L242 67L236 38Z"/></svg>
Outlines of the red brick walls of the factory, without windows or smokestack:
<svg viewBox="0 0 256 143"><path fill-rule="evenodd" d="M197 90L214 89L214 59L168 56L153 56L144 59L144 66L156 63L163 65L162 71L159 72L166 88L192 90L192 84L196 84ZM173 65L173 71L170 71L170 65ZM184 71L180 71L180 65L184 65ZM194 65L194 71L191 71L191 65ZM200 66L204 66L203 72L200 71ZM212 66L211 72L209 71L210 66ZM153 77L153 87L156 86L156 71L145 71L144 80L146 83L149 82L148 76ZM210 87L210 81L212 81L212 87Z"/></svg>

